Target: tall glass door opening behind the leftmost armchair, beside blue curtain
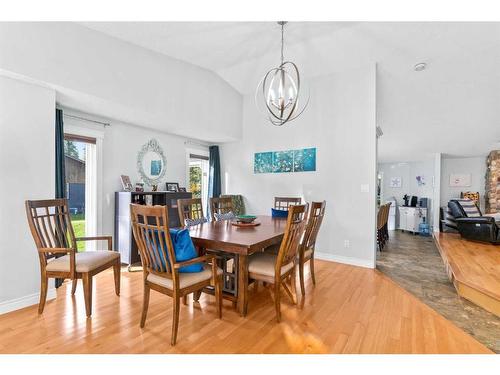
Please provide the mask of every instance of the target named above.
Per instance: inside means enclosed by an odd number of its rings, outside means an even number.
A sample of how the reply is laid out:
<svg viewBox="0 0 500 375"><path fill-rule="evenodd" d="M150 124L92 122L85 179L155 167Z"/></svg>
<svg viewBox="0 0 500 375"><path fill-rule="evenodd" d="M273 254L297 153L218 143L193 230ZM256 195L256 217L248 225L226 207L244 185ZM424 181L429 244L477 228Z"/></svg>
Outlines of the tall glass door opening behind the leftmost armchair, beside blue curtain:
<svg viewBox="0 0 500 375"><path fill-rule="evenodd" d="M91 236L97 229L96 139L64 135L66 197L75 237ZM94 241L77 242L78 251L95 250Z"/></svg>

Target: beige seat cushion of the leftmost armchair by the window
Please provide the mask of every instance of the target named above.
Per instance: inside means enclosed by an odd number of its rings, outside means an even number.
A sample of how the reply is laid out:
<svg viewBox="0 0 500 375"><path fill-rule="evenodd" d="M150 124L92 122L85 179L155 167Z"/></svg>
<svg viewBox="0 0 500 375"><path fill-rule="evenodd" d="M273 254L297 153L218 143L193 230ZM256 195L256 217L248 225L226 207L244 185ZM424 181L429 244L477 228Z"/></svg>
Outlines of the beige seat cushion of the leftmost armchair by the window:
<svg viewBox="0 0 500 375"><path fill-rule="evenodd" d="M76 272L90 272L113 259L119 259L117 251L85 251L75 254ZM47 271L69 272L69 255L56 258L47 263Z"/></svg>

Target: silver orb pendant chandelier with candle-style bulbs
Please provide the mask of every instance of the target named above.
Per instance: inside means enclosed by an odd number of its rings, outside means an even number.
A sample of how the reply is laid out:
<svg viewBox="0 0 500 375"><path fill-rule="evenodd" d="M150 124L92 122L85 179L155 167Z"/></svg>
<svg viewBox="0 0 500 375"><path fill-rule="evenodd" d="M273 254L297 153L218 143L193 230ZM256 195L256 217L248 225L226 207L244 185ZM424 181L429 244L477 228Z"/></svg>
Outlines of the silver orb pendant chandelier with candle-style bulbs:
<svg viewBox="0 0 500 375"><path fill-rule="evenodd" d="M309 96L302 108L299 105L301 97L300 74L297 65L284 61L284 26L287 22L280 21L281 26L281 64L270 69L257 85L255 102L257 108L276 126L282 126L296 119L307 107ZM301 100L302 101L302 100ZM300 103L302 104L302 103Z"/></svg>

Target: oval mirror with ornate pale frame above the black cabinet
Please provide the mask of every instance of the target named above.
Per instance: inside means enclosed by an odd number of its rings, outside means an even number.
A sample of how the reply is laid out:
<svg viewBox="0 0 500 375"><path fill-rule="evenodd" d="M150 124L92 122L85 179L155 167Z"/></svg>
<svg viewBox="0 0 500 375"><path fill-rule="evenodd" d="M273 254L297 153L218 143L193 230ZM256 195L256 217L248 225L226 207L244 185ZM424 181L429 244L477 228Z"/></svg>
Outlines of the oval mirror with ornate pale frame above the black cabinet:
<svg viewBox="0 0 500 375"><path fill-rule="evenodd" d="M167 158L156 139L145 143L137 155L137 171L147 185L159 185L167 170Z"/></svg>

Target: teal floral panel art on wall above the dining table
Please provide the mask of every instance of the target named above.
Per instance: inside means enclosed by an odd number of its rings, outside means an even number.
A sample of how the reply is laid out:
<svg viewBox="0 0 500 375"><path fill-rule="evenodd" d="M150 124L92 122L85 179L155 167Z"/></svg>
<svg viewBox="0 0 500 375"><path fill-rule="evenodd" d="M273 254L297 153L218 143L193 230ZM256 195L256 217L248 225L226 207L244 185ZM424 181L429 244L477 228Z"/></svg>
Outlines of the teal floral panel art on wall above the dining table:
<svg viewBox="0 0 500 375"><path fill-rule="evenodd" d="M257 152L254 155L254 173L314 172L316 148Z"/></svg>

